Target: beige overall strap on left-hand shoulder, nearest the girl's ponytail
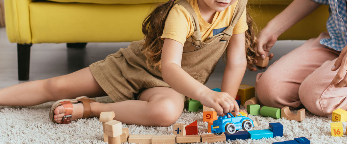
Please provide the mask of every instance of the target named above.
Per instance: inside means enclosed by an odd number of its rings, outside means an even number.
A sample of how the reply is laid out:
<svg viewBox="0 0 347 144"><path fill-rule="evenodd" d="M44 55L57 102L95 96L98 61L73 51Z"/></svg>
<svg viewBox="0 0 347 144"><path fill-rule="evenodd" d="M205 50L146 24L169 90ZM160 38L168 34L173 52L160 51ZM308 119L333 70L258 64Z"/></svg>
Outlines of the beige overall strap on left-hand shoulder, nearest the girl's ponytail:
<svg viewBox="0 0 347 144"><path fill-rule="evenodd" d="M179 0L176 3L183 6L191 14L191 17L193 19L193 26L194 26L194 32L192 35L193 36L192 44L196 47L200 47L201 32L200 32L200 26L199 26L199 19L197 18L193 7L191 6L191 4L189 4L189 2L187 0Z"/></svg>

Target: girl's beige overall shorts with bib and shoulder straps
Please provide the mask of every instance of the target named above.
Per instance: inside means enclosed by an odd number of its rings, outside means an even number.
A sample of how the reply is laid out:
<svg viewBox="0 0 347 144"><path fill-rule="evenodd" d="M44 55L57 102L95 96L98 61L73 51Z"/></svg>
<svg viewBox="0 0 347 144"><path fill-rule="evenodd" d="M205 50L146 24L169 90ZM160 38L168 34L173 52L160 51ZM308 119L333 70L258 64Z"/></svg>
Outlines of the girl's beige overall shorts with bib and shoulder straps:
<svg viewBox="0 0 347 144"><path fill-rule="evenodd" d="M180 0L193 19L194 33L186 39L183 47L181 68L202 84L205 84L214 71L218 60L226 50L232 30L241 17L247 0L239 0L230 26L221 33L201 41L198 18L186 0ZM146 66L146 57L141 52L144 40L132 42L128 48L121 48L104 60L90 65L90 69L101 88L115 102L129 100L152 87L170 87L159 70ZM185 99L185 98L183 98Z"/></svg>

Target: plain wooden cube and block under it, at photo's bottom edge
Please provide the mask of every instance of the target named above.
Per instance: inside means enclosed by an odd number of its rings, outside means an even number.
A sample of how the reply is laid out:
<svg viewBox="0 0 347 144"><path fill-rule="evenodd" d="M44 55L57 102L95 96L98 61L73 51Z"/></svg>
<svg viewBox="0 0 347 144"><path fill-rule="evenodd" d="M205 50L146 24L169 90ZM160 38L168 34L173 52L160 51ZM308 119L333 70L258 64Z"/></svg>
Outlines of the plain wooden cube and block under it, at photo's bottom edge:
<svg viewBox="0 0 347 144"><path fill-rule="evenodd" d="M112 120L105 123L105 130L109 144L120 144L120 135L122 132L122 123Z"/></svg>

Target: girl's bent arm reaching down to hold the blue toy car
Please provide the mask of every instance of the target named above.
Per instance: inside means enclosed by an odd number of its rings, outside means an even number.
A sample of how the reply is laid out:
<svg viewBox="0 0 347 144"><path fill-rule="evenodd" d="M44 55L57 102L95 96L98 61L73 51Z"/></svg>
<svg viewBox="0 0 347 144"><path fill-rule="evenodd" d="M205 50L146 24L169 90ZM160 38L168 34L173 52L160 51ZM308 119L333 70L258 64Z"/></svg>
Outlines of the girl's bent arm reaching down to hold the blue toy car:
<svg viewBox="0 0 347 144"><path fill-rule="evenodd" d="M165 38L161 53L161 70L164 81L177 92L199 100L207 107L214 108L219 115L231 112L235 105L238 112L235 99L228 93L214 92L181 68L182 52L183 45L180 42Z"/></svg>

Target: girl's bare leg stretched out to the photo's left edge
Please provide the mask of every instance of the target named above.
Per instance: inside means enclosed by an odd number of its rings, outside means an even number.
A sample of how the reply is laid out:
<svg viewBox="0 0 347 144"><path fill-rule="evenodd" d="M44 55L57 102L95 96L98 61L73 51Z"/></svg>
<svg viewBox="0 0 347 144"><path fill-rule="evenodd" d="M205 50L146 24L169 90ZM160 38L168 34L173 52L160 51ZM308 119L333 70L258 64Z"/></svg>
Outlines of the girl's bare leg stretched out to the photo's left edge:
<svg viewBox="0 0 347 144"><path fill-rule="evenodd" d="M0 89L1 106L33 106L59 99L78 96L105 96L105 92L94 79L90 68L74 73Z"/></svg>

